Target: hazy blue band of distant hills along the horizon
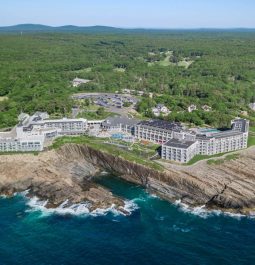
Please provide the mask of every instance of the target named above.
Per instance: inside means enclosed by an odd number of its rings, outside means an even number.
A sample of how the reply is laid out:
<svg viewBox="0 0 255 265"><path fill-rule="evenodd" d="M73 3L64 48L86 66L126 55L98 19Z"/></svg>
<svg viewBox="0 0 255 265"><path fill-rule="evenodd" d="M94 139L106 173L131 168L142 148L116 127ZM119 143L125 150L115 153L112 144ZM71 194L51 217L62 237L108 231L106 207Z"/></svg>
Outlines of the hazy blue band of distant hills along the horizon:
<svg viewBox="0 0 255 265"><path fill-rule="evenodd" d="M77 33L167 33L167 32L255 32L255 29L249 28L200 28L200 29L123 29L108 26L90 26L79 27L74 25L65 25L60 27L52 27L40 24L20 24L15 26L0 27L0 33L36 33L36 32L77 32Z"/></svg>

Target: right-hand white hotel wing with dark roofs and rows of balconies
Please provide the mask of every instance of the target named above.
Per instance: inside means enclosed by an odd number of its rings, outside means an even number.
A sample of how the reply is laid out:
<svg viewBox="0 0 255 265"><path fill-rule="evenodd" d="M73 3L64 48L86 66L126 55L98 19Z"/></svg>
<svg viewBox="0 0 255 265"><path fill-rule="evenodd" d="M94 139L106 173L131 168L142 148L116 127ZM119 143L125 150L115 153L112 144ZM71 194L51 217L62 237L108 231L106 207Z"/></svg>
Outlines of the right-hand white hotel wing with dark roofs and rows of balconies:
<svg viewBox="0 0 255 265"><path fill-rule="evenodd" d="M162 145L161 158L181 163L195 155L215 155L247 148L249 121L235 119L226 131L185 130L180 123L151 120L135 126L135 138Z"/></svg>

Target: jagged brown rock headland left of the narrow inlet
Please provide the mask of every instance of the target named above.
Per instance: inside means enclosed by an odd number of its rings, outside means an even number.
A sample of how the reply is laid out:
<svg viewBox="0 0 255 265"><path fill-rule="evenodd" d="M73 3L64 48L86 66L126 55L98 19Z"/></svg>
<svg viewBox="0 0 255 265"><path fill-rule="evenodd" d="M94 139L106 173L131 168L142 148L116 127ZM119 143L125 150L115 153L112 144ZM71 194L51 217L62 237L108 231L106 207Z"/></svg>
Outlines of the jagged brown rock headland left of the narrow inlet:
<svg viewBox="0 0 255 265"><path fill-rule="evenodd" d="M91 210L117 208L124 202L108 190L90 181L99 170L77 154L67 160L55 151L38 156L9 155L0 157L0 193L7 196L29 190L28 196L47 200L47 207L57 207L66 200L70 204L90 202Z"/></svg>

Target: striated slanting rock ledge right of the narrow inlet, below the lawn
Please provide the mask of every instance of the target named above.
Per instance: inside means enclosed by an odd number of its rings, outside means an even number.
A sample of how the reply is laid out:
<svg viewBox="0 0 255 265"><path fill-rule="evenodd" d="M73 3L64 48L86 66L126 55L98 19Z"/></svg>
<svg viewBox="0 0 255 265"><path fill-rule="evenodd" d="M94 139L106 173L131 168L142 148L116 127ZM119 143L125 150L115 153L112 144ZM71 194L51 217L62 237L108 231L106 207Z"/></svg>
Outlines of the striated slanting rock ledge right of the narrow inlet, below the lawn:
<svg viewBox="0 0 255 265"><path fill-rule="evenodd" d="M121 178L140 184L150 192L170 201L181 200L191 206L247 213L255 208L255 148L240 152L240 158L220 165L201 161L193 166L169 164L164 172L126 161L89 148L65 145L58 153L80 154L92 165L116 173Z"/></svg>

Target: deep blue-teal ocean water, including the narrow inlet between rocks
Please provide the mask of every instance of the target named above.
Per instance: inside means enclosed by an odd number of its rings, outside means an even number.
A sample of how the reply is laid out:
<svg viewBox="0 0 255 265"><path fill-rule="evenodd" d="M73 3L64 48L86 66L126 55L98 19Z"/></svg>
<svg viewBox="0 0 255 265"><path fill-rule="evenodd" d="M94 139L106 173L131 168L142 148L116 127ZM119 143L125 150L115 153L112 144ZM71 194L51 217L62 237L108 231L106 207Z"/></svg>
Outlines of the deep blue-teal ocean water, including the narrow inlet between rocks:
<svg viewBox="0 0 255 265"><path fill-rule="evenodd" d="M115 177L99 182L139 206L130 216L42 215L0 199L0 264L255 264L255 220L199 217Z"/></svg>

